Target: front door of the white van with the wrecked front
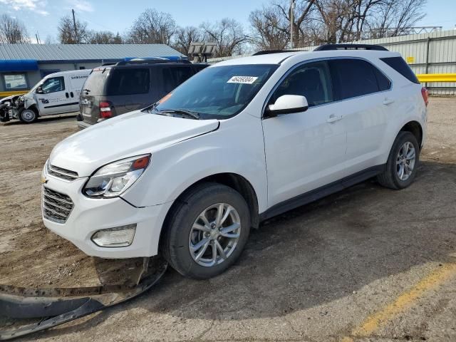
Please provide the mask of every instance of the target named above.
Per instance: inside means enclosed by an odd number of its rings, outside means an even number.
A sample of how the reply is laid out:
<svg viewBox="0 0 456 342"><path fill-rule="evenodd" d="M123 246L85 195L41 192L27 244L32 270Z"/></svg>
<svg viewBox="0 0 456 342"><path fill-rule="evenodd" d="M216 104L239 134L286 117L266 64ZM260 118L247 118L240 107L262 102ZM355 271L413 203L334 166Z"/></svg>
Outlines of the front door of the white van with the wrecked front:
<svg viewBox="0 0 456 342"><path fill-rule="evenodd" d="M42 91L42 93L36 93L36 103L41 115L66 113L72 110L71 102L74 100L66 90L63 76L48 78L38 88Z"/></svg>

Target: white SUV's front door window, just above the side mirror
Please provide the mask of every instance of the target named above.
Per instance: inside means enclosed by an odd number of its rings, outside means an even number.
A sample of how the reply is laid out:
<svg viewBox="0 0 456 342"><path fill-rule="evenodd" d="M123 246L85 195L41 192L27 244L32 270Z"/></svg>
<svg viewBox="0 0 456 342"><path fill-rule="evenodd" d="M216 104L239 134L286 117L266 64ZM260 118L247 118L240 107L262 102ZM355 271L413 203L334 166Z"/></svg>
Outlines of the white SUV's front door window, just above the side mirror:
<svg viewBox="0 0 456 342"><path fill-rule="evenodd" d="M282 95L305 96L309 107L333 101L333 88L325 61L306 63L286 76L269 101L275 103Z"/></svg>

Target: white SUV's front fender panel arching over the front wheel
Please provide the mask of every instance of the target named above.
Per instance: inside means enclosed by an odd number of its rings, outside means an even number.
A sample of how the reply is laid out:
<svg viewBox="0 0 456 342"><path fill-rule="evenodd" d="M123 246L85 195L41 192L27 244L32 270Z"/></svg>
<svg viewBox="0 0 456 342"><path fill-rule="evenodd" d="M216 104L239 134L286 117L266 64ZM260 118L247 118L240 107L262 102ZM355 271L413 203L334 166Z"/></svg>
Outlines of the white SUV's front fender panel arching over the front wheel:
<svg viewBox="0 0 456 342"><path fill-rule="evenodd" d="M262 212L267 207L263 144L261 119L224 120L219 130L153 152L150 167L122 197L138 207L163 204L205 177L234 173L250 182Z"/></svg>

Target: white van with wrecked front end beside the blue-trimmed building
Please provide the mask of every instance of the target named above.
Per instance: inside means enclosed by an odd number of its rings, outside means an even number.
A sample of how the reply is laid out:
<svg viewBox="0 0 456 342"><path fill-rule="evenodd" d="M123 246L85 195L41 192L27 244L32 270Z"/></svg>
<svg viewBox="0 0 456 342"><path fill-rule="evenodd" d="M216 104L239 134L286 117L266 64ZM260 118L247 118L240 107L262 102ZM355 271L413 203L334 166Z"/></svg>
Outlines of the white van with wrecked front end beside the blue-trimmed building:
<svg viewBox="0 0 456 342"><path fill-rule="evenodd" d="M36 83L28 93L2 99L2 103L8 103L2 121L18 119L23 123L33 123L39 116L77 111L81 89L90 71L84 69L51 73Z"/></svg>

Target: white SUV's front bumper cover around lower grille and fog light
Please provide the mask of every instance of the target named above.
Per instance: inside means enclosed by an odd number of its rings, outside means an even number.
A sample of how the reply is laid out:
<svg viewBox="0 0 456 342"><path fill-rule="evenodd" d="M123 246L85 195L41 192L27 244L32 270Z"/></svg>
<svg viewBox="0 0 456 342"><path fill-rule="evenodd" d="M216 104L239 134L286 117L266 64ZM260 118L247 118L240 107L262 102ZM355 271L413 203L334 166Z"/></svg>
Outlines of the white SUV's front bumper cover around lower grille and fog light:
<svg viewBox="0 0 456 342"><path fill-rule="evenodd" d="M120 197L91 199L81 192L87 177L73 182L46 175L43 187L71 197L73 209L65 223L43 217L44 225L93 257L122 259L152 257L158 252L158 242L165 216L172 202L152 207L134 207ZM133 243L128 247L98 247L91 237L100 229L136 224Z"/></svg>

